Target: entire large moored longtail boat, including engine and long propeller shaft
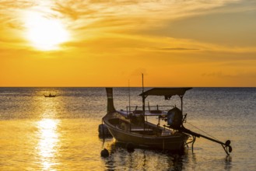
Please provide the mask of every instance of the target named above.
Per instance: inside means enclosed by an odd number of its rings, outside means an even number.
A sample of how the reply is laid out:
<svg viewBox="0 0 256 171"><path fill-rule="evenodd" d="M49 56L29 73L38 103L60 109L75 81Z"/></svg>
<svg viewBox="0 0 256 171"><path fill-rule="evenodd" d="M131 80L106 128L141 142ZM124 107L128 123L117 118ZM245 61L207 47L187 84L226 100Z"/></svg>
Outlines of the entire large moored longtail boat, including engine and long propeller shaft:
<svg viewBox="0 0 256 171"><path fill-rule="evenodd" d="M126 110L117 111L114 108L113 89L106 88L107 114L103 117L103 123L117 141L126 145L181 151L185 145L192 143L193 150L195 139L202 137L219 143L229 155L232 152L230 140L223 143L184 127L187 114L183 115L183 96L189 89L191 88L153 88L146 92L142 90L139 95L142 96L142 106L127 106ZM145 106L147 96L164 96L165 99L180 96L181 109L177 106ZM149 122L148 117L158 117L157 124ZM164 124L160 124L162 120ZM193 139L187 142L189 137Z"/></svg>

